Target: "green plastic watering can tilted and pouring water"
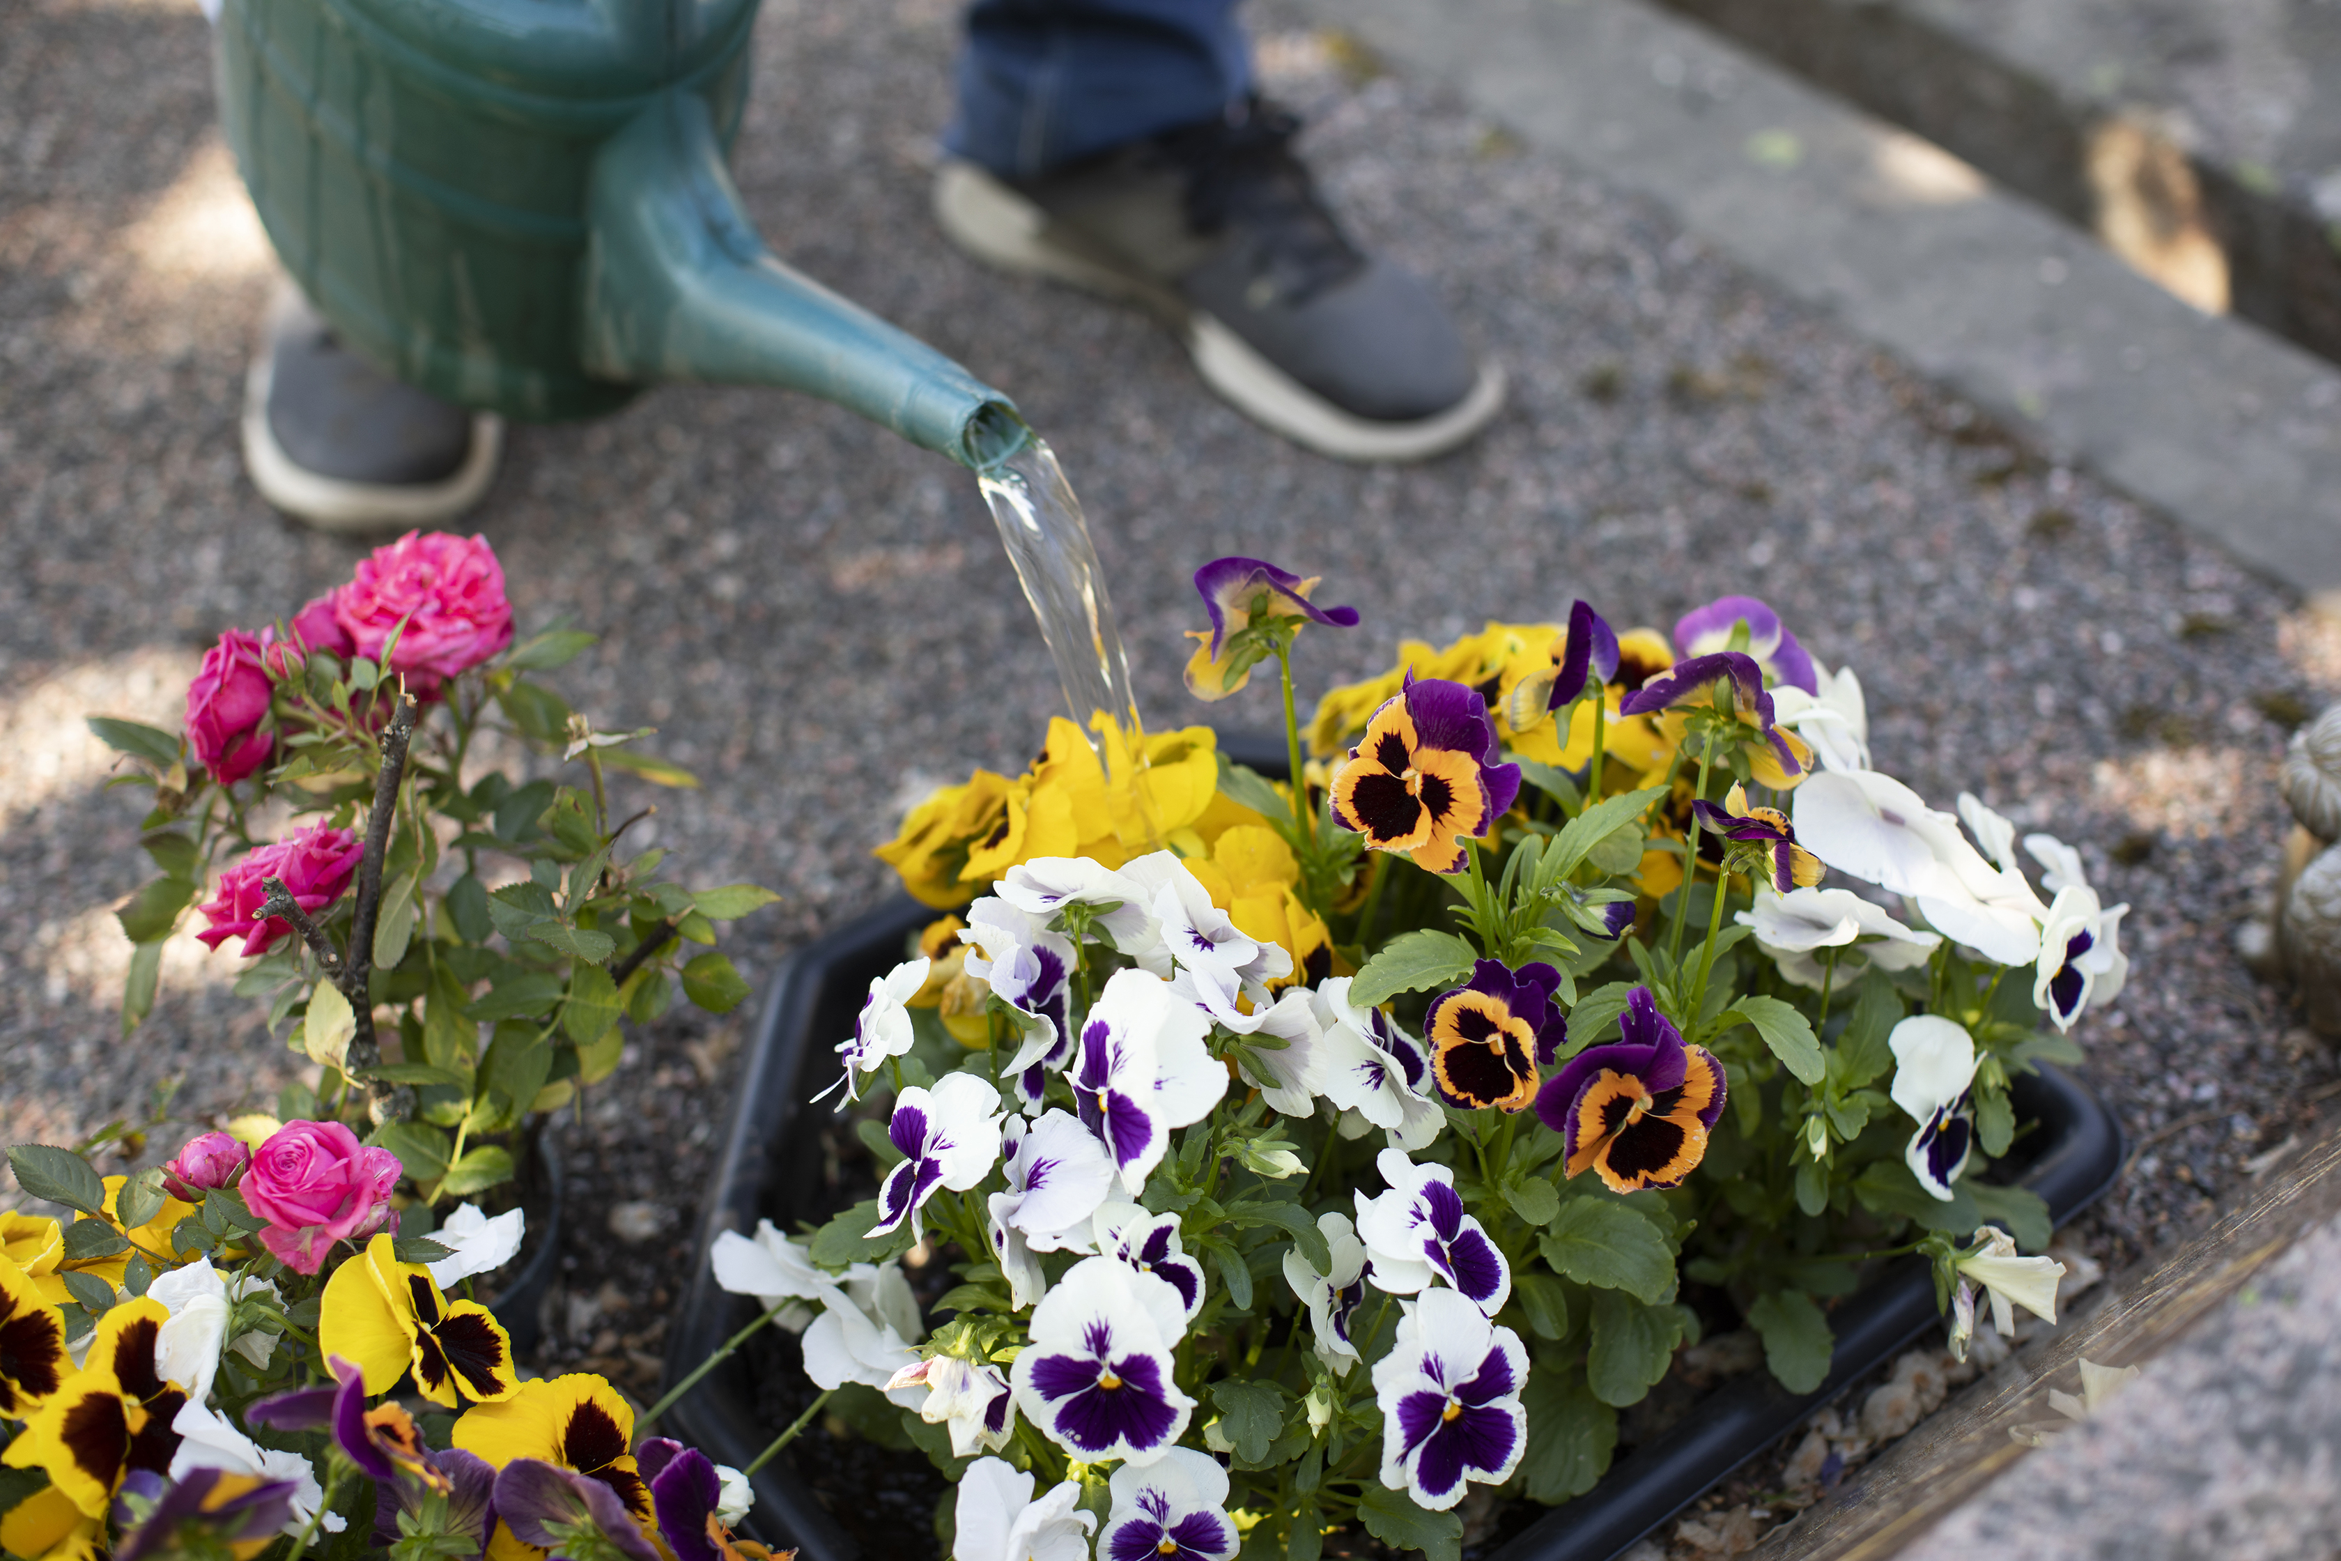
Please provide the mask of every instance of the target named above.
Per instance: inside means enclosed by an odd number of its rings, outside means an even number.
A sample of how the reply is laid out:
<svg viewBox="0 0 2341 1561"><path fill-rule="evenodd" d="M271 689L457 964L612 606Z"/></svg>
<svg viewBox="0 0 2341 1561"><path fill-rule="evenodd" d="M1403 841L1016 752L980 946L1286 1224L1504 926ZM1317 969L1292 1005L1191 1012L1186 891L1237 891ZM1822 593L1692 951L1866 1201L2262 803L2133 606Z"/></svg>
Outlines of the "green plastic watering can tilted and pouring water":
<svg viewBox="0 0 2341 1561"><path fill-rule="evenodd" d="M773 384L983 470L1028 431L784 267L723 166L756 0L227 0L220 103L318 311L464 407L592 417Z"/></svg>

